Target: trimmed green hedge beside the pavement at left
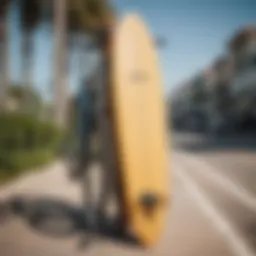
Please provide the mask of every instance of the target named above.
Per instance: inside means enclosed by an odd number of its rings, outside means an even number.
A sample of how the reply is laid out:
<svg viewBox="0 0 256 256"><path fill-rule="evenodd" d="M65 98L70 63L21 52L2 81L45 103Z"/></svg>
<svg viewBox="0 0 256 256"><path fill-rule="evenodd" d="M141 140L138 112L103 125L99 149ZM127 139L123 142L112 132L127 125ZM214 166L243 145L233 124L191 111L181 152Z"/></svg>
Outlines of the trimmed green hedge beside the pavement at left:
<svg viewBox="0 0 256 256"><path fill-rule="evenodd" d="M52 123L24 114L0 114L0 179L53 160L63 137L63 132Z"/></svg>

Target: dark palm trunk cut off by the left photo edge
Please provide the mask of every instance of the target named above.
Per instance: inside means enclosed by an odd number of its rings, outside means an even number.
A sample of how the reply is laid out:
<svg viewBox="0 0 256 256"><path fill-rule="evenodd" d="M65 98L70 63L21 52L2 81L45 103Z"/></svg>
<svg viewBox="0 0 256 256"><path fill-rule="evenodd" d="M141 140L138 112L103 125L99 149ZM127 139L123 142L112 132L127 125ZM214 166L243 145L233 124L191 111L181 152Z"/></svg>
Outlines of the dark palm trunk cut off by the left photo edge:
<svg viewBox="0 0 256 256"><path fill-rule="evenodd" d="M4 107L5 92L8 86L8 39L7 17L10 1L2 0L0 3L0 105Z"/></svg>

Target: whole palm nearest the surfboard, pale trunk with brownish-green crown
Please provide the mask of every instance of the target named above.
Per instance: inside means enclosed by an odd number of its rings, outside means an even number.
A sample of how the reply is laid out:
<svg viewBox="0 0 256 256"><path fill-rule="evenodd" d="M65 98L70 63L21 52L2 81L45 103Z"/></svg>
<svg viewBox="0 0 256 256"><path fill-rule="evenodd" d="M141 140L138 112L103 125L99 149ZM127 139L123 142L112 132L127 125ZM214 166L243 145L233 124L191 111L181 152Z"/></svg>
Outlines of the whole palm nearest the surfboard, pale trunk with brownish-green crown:
<svg viewBox="0 0 256 256"><path fill-rule="evenodd" d="M55 115L59 124L65 122L67 100L67 35L90 34L100 39L108 26L112 9L105 0L55 0ZM111 14L111 15L110 15Z"/></svg>

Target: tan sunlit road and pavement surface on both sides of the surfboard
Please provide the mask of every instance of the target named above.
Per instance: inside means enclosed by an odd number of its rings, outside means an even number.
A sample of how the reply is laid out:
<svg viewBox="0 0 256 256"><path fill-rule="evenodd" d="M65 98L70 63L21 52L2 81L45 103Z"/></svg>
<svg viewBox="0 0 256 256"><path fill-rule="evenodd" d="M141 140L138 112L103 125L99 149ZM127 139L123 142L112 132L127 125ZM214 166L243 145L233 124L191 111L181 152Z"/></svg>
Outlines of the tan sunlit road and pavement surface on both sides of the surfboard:
<svg viewBox="0 0 256 256"><path fill-rule="evenodd" d="M32 198L29 210L16 206L17 214L2 220L1 256L256 255L256 150L249 142L173 136L169 151L172 202L163 236L151 250L108 237L81 248L81 232L67 218L59 222L58 233L40 229L31 221L33 212L51 208L69 212L80 202L79 186L70 181L61 162L22 177L1 188L1 200L14 195Z"/></svg>

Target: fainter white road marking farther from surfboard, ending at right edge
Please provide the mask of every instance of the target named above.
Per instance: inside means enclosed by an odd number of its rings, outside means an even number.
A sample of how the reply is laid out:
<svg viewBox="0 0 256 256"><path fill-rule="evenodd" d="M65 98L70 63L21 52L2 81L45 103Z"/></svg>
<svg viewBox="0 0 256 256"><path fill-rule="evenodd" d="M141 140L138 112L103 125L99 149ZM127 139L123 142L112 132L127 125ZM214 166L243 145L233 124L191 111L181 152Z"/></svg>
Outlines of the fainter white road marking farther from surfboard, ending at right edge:
<svg viewBox="0 0 256 256"><path fill-rule="evenodd" d="M227 192L232 193L236 196L244 205L246 205L249 209L256 212L256 198L248 192L242 185L237 182L230 181L225 175L220 174L216 169L209 164L205 163L201 159L197 159L195 157L191 157L188 154L178 154L186 162L191 165L193 170L200 172L205 177L211 179L212 182L215 182L222 186Z"/></svg>

